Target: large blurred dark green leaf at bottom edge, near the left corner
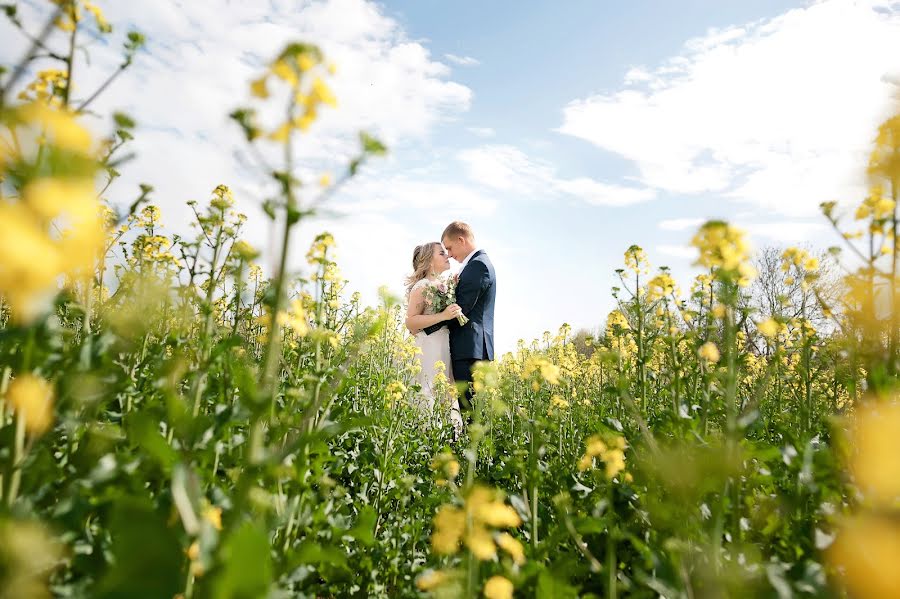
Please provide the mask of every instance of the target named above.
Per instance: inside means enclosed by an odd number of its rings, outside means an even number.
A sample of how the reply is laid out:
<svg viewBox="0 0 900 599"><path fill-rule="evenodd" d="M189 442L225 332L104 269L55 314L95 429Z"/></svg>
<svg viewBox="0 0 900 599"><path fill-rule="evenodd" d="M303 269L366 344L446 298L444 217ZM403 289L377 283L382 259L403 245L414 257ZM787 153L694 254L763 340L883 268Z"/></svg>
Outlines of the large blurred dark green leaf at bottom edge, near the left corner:
<svg viewBox="0 0 900 599"><path fill-rule="evenodd" d="M146 501L120 499L110 521L112 566L96 594L102 599L172 597L183 589L183 552L166 521Z"/></svg>

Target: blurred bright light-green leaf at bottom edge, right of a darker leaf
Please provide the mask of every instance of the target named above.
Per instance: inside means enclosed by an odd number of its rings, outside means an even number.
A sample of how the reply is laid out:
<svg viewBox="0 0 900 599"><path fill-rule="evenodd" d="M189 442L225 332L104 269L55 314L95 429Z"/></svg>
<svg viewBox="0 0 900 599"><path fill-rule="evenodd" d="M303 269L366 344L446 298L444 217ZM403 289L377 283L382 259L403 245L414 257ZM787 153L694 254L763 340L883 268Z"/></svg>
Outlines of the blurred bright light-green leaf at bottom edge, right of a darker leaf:
<svg viewBox="0 0 900 599"><path fill-rule="evenodd" d="M216 599L266 597L272 582L269 539L251 522L228 537L220 552L222 568L213 584Z"/></svg>

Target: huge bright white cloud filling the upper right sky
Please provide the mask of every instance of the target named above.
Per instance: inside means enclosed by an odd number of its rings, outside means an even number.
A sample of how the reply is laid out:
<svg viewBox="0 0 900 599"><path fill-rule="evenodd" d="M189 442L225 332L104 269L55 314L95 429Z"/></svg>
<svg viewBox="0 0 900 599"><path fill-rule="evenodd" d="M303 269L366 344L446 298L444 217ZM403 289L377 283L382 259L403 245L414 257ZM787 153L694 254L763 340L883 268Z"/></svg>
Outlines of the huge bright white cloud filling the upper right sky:
<svg viewBox="0 0 900 599"><path fill-rule="evenodd" d="M570 102L560 131L634 162L674 193L809 216L858 200L900 68L900 3L823 0L711 30L629 87Z"/></svg>

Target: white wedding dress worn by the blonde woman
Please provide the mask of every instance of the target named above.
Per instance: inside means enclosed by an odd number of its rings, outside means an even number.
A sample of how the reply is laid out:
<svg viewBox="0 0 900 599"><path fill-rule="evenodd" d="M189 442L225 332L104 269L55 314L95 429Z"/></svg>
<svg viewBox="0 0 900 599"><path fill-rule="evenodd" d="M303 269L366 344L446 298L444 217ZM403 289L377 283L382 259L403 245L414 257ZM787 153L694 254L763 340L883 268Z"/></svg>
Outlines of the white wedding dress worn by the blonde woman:
<svg viewBox="0 0 900 599"><path fill-rule="evenodd" d="M412 290L420 289L428 283L427 279L422 279L413 285ZM425 307L425 314L433 314L430 306ZM449 387L453 386L453 370L452 358L450 356L450 331L447 327L441 327L431 335L425 331L419 331L415 336L416 346L421 350L419 361L422 368L416 376L416 382L422 388L417 398L416 407L422 413L422 416L428 422L443 423L446 422L449 415L450 424L457 432L462 430L462 416L459 413L459 401L455 397L446 394L440 394L439 389L435 389L434 378L438 374L439 368L435 368L435 364L442 362L444 364L444 375L447 378Z"/></svg>

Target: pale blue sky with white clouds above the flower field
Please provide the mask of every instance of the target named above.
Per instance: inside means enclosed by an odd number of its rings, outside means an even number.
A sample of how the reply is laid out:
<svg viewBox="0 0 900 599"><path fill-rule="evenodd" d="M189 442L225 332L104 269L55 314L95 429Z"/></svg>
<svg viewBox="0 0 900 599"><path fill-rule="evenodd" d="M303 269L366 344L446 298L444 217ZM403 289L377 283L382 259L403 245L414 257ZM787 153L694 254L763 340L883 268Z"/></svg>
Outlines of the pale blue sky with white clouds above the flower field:
<svg viewBox="0 0 900 599"><path fill-rule="evenodd" d="M268 264L270 189L242 167L225 115L284 43L318 43L338 64L339 107L299 144L300 174L345 161L359 129L391 154L303 225L293 266L332 230L351 287L374 302L381 284L402 292L415 245L467 220L497 267L501 351L563 322L601 325L632 243L687 286L686 244L708 218L758 247L833 244L817 206L864 193L900 80L895 0L100 4L119 27L90 49L82 89L115 67L125 24L149 39L98 105L140 124L111 201L150 182L182 232L185 202L229 184ZM0 39L9 62L23 42L5 24Z"/></svg>

